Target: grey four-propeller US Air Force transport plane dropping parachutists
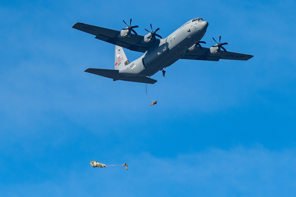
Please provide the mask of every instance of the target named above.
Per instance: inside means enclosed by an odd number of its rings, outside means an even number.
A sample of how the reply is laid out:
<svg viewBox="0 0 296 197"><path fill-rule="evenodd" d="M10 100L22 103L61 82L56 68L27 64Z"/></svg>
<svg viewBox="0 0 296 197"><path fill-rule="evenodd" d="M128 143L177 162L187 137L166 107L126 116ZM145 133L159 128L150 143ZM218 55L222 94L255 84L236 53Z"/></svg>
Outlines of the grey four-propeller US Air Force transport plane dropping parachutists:
<svg viewBox="0 0 296 197"><path fill-rule="evenodd" d="M126 24L124 20L123 22ZM205 42L200 40L205 35L209 25L202 18L195 18L186 22L164 39L156 33L159 28L153 31L151 24L151 31L145 29L149 32L145 36L137 34L134 28L139 26L132 26L131 20L130 25L126 25L128 27L123 28L121 31L81 22L73 25L72 28L95 35L95 38L115 45L114 70L89 68L85 72L108 77L113 79L113 81L123 80L154 84L157 81L151 79L150 76L172 65L179 59L205 61L229 59L246 61L253 57L252 55L227 52L223 45L227 45L228 43L221 43L221 36L219 43L213 38L217 44L211 46L211 48L202 47L200 43L205 44ZM129 62L123 48L144 54L138 59Z"/></svg>

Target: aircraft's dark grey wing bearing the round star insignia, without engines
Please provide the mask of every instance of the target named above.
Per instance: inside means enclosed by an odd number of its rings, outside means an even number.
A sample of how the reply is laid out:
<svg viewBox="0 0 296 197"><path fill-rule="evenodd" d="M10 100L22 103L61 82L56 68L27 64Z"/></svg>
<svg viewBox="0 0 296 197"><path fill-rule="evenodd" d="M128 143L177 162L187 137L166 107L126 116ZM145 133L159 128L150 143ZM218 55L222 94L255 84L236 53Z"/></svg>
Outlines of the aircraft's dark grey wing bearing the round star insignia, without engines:
<svg viewBox="0 0 296 197"><path fill-rule="evenodd" d="M107 43L118 45L123 48L127 48L131 51L145 53L150 47L155 45L155 42L142 44L141 40L144 39L144 36L142 35L136 36L135 34L131 34L130 37L118 38L117 35L120 34L120 31L111 30L104 27L97 27L94 25L88 25L81 22L76 22L72 28L95 35L96 39L103 40Z"/></svg>

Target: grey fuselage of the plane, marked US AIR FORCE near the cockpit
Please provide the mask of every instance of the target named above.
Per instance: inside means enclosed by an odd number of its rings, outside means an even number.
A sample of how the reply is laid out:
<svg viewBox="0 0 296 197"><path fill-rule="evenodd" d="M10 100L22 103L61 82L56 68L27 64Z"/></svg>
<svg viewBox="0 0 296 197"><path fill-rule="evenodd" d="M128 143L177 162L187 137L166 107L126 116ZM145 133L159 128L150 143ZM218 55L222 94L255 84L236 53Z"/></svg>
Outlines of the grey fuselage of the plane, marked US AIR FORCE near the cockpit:
<svg viewBox="0 0 296 197"><path fill-rule="evenodd" d="M158 40L141 57L119 70L124 76L152 76L180 58L205 35L208 22L190 20L171 33L168 37ZM120 80L120 77L115 80Z"/></svg>

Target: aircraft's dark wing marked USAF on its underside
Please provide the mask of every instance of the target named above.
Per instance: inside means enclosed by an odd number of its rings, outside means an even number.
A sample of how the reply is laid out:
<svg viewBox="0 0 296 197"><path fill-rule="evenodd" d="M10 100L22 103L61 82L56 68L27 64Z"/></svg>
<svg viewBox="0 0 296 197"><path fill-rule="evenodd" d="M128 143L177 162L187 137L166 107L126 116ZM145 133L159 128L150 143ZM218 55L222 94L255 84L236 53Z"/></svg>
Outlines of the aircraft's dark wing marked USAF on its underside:
<svg viewBox="0 0 296 197"><path fill-rule="evenodd" d="M242 54L242 53L234 53L227 51L227 53L221 50L220 54L212 55L210 53L210 48L202 47L196 48L194 51L186 51L185 55L182 59L192 59L192 60L205 60L205 61L219 61L220 59L229 59L229 60L244 60L247 61L251 59L252 55Z"/></svg>

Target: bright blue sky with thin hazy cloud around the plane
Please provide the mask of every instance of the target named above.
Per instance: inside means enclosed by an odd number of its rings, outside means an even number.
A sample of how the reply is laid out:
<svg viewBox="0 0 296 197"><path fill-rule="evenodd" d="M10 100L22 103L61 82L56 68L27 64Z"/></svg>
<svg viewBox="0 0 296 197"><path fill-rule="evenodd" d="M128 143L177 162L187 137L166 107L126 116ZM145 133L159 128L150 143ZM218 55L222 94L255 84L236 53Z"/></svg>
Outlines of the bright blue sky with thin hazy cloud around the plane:
<svg viewBox="0 0 296 197"><path fill-rule="evenodd" d="M1 1L0 196L295 196L295 1ZM249 61L179 60L145 84L72 29L162 37L195 17ZM125 50L129 60L141 53ZM91 160L124 167L92 168Z"/></svg>

